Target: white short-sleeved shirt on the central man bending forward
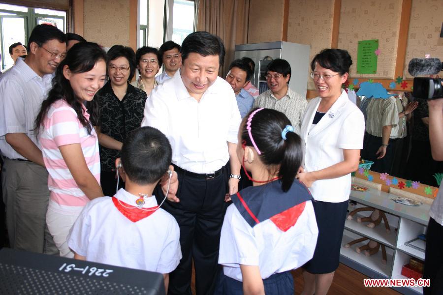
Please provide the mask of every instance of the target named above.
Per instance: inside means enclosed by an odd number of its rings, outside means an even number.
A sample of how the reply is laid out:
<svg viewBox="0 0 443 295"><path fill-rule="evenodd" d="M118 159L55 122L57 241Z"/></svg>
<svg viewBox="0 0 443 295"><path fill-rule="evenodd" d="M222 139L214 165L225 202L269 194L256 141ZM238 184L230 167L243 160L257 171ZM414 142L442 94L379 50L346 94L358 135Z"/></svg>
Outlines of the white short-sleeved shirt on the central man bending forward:
<svg viewBox="0 0 443 295"><path fill-rule="evenodd" d="M148 96L141 125L166 135L172 163L190 172L211 173L229 160L227 142L237 143L240 121L234 91L226 81L217 77L198 102L177 71Z"/></svg>

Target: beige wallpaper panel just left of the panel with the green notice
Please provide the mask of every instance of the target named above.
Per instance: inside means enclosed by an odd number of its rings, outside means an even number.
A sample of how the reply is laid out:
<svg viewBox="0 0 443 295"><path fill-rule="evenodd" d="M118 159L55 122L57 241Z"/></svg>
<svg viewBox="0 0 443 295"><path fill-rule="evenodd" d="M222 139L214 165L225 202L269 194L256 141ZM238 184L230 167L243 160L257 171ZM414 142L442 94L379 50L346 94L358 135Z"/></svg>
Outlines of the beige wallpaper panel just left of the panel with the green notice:
<svg viewBox="0 0 443 295"><path fill-rule="evenodd" d="M287 41L311 45L310 61L331 47L333 9L334 0L289 0ZM308 89L315 89L310 77Z"/></svg>

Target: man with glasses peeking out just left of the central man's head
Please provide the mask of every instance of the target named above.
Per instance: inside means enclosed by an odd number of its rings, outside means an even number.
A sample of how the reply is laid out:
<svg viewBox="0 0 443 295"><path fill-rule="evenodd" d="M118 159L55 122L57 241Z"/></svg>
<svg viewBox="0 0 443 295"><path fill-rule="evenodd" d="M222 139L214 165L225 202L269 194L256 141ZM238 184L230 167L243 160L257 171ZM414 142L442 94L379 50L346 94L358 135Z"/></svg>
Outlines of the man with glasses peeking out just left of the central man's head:
<svg viewBox="0 0 443 295"><path fill-rule="evenodd" d="M156 81L162 84L172 78L175 72L182 66L181 46L173 41L166 41L160 46L163 57L164 71L156 77Z"/></svg>

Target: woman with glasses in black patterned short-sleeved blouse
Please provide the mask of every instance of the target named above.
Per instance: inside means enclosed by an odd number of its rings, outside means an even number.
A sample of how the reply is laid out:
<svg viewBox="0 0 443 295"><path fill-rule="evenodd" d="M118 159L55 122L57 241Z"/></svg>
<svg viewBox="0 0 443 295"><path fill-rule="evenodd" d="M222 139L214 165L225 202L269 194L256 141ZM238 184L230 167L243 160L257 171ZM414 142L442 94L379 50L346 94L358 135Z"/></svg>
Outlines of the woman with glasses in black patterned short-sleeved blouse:
<svg viewBox="0 0 443 295"><path fill-rule="evenodd" d="M105 196L113 196L117 187L115 160L120 157L127 134L141 124L147 95L129 84L135 73L135 54L130 47L114 45L107 57L109 81L95 95L99 109L95 125L100 144L101 187Z"/></svg>

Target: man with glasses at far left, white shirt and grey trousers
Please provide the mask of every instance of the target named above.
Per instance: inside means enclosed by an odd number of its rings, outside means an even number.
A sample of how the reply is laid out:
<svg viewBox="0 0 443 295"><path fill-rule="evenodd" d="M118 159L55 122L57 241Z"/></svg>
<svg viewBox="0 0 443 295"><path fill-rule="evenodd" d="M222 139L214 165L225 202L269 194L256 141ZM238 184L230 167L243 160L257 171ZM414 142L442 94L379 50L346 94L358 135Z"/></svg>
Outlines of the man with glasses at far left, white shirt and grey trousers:
<svg viewBox="0 0 443 295"><path fill-rule="evenodd" d="M48 172L34 121L65 53L64 33L38 25L28 40L28 56L0 77L1 181L11 248L59 253L46 227Z"/></svg>

